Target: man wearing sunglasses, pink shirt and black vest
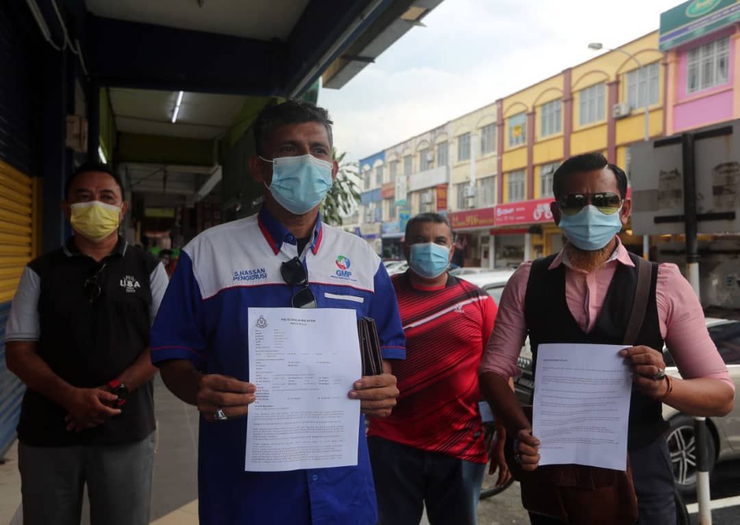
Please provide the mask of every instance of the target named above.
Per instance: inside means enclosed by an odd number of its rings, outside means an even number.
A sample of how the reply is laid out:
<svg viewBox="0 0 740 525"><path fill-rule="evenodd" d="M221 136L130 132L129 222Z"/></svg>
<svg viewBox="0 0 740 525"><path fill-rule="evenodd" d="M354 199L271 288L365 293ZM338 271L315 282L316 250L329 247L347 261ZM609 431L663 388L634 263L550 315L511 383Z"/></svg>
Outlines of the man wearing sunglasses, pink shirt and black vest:
<svg viewBox="0 0 740 525"><path fill-rule="evenodd" d="M578 155L553 177L554 222L568 243L559 254L526 262L507 283L494 333L480 366L481 390L508 431L517 436L515 458L536 469L539 440L508 389L521 373L519 349L529 335L533 353L548 342L622 344L636 290L637 256L617 234L630 215L627 177L603 155ZM664 342L684 379L665 375ZM628 451L640 525L676 523L673 474L661 403L696 416L723 416L734 387L704 323L696 294L676 265L653 263L642 328L621 351L633 372ZM609 512L609 509L604 509ZM533 525L561 522L530 515Z"/></svg>

